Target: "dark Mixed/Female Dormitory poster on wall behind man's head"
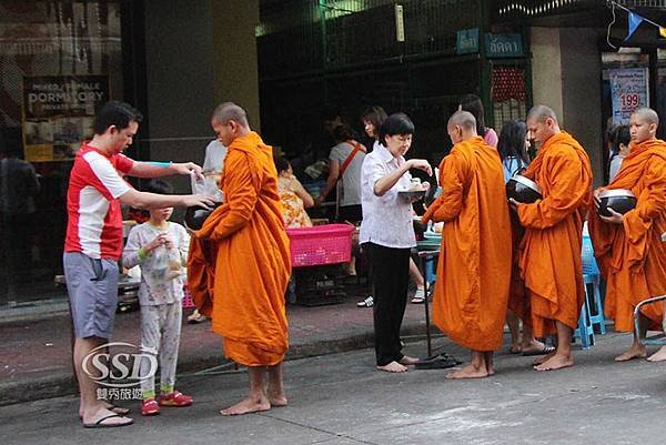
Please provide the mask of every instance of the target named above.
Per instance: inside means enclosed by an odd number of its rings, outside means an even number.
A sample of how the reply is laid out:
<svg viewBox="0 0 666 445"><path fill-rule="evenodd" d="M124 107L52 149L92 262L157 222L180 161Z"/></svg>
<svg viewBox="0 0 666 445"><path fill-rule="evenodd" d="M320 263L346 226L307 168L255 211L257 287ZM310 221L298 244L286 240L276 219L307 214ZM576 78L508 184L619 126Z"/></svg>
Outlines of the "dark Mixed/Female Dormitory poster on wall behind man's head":
<svg viewBox="0 0 666 445"><path fill-rule="evenodd" d="M30 162L72 159L92 136L97 111L109 100L107 75L23 78L23 149Z"/></svg>

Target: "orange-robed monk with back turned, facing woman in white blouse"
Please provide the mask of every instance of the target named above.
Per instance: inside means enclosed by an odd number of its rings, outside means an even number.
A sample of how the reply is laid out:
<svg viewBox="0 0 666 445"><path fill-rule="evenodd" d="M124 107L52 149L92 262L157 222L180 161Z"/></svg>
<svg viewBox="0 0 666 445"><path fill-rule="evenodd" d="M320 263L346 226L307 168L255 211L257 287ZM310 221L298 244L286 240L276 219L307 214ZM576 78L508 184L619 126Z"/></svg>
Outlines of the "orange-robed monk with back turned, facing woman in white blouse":
<svg viewBox="0 0 666 445"><path fill-rule="evenodd" d="M440 165L443 192L423 216L444 222L433 321L472 350L471 363L446 377L487 377L503 343L512 266L504 171L497 151L476 134L472 113L454 113L447 132L454 145Z"/></svg>

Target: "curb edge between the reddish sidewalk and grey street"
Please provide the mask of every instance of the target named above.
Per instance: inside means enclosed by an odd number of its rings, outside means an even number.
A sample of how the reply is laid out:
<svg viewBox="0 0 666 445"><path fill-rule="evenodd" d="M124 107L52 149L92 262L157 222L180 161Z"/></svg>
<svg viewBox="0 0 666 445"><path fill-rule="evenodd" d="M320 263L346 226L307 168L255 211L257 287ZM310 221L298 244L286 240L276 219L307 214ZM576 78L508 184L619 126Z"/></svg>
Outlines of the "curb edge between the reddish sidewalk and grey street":
<svg viewBox="0 0 666 445"><path fill-rule="evenodd" d="M425 322L412 322L404 325L401 330L401 335L425 335ZM373 346L374 334L372 331L366 331L344 338L293 344L286 353L285 361L366 350ZM223 363L220 353L196 357L186 363L179 363L178 374L194 373L220 366ZM62 397L77 393L78 387L74 377L69 373L61 373L50 377L38 377L26 382L0 383L0 406L33 402L42 398Z"/></svg>

